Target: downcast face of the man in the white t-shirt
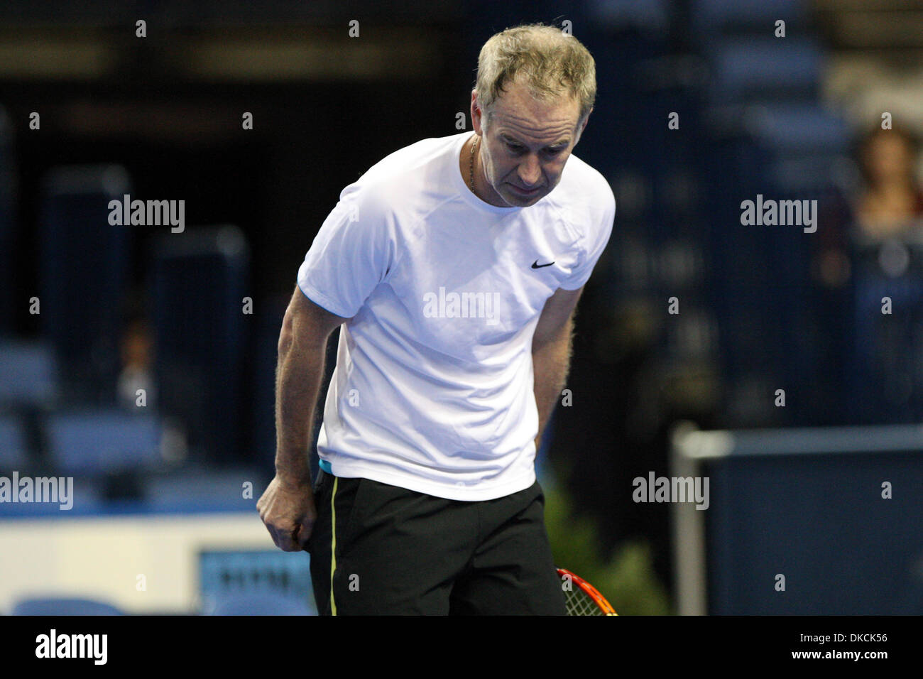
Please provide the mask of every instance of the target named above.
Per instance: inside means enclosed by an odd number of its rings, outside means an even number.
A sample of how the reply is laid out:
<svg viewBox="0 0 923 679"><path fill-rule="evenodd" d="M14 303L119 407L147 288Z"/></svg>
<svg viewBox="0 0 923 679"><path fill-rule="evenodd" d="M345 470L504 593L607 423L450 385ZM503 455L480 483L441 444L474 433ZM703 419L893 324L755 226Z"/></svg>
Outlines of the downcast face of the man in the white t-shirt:
<svg viewBox="0 0 923 679"><path fill-rule="evenodd" d="M528 207L557 186L580 139L580 104L568 97L538 102L524 85L508 84L493 103L489 124L472 94L474 131L481 135L481 164L489 185L485 199L497 207ZM588 116L589 117L589 116Z"/></svg>

